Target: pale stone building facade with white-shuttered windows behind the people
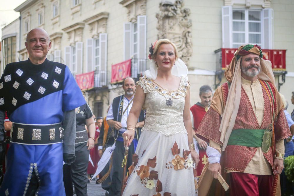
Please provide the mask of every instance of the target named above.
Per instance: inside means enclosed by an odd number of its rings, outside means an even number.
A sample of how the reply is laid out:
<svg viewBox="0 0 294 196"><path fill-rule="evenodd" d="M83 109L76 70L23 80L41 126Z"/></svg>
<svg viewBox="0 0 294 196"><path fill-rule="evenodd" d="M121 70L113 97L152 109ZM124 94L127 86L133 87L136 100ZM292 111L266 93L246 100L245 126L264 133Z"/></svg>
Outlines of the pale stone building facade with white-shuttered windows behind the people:
<svg viewBox="0 0 294 196"><path fill-rule="evenodd" d="M215 89L224 82L218 49L258 43L287 50L288 73L275 75L290 101L293 10L292 0L27 0L15 9L21 14L17 55L28 57L24 43L30 29L45 29L52 42L48 59L65 63L74 75L95 71L87 99L94 114L104 116L123 93L120 84L110 84L111 65L133 58L137 78L148 68L148 48L156 39L176 43L189 70L191 105L199 100L200 86ZM288 111L293 108L290 104Z"/></svg>

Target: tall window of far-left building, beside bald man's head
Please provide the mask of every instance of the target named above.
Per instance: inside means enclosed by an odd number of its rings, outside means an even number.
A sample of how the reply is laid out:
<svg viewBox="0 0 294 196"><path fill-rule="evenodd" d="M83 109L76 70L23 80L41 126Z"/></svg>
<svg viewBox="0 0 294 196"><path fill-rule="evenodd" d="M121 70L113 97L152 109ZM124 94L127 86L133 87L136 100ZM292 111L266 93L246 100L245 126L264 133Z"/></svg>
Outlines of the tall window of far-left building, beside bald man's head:
<svg viewBox="0 0 294 196"><path fill-rule="evenodd" d="M3 64L15 62L16 36L3 39Z"/></svg>

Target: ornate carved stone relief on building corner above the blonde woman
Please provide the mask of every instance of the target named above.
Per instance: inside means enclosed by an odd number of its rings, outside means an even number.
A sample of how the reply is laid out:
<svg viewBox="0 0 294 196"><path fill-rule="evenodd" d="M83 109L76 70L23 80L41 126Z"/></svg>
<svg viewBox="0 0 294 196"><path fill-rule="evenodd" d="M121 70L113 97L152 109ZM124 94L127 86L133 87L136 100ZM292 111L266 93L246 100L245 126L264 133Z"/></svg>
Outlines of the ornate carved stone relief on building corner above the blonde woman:
<svg viewBox="0 0 294 196"><path fill-rule="evenodd" d="M176 44L179 58L188 66L192 56L192 21L188 19L190 9L183 6L183 0L176 0L174 4L168 1L160 3L156 29L158 39L166 38Z"/></svg>

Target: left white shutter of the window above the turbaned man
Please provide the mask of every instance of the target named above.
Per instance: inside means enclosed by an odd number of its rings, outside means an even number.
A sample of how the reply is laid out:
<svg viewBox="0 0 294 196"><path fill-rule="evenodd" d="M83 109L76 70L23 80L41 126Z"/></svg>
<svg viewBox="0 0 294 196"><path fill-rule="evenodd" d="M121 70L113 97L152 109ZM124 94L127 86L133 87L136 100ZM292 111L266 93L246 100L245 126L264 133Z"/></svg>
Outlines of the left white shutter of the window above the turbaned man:
<svg viewBox="0 0 294 196"><path fill-rule="evenodd" d="M232 6L222 7L222 38L223 38L223 48L232 48L233 39L233 29L232 29Z"/></svg>

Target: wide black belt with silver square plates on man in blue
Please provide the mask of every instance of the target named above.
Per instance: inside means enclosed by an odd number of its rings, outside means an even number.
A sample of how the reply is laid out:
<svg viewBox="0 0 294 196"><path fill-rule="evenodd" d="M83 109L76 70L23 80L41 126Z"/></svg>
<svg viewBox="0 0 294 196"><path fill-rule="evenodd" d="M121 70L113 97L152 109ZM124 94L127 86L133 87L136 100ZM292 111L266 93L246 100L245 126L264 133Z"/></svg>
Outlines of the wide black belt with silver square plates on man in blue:
<svg viewBox="0 0 294 196"><path fill-rule="evenodd" d="M12 143L26 145L55 144L62 142L63 130L61 123L50 125L12 123L10 136Z"/></svg>

